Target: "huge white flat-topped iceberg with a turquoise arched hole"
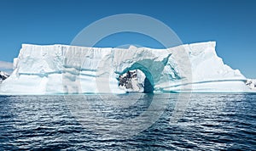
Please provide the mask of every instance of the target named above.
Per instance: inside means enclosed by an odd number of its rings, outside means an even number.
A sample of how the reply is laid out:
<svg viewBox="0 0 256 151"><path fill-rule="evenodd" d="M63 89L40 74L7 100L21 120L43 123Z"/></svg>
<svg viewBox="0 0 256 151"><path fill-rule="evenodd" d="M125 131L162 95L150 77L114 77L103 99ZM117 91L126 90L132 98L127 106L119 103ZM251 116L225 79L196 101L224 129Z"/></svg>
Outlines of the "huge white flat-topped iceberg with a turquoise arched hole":
<svg viewBox="0 0 256 151"><path fill-rule="evenodd" d="M119 76L141 70L154 92L248 92L247 79L218 58L215 42L175 48L84 48L23 44L1 93L122 93ZM150 86L149 86L150 85Z"/></svg>

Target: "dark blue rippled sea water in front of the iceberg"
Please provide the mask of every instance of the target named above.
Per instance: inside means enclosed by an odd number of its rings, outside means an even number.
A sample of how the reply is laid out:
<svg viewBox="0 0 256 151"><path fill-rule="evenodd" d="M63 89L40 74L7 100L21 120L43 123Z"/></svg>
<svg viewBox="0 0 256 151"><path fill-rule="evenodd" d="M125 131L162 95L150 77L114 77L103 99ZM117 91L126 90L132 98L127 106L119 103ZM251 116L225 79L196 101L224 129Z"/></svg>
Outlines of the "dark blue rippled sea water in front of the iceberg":
<svg viewBox="0 0 256 151"><path fill-rule="evenodd" d="M256 150L255 94L0 97L0 150Z"/></svg>

